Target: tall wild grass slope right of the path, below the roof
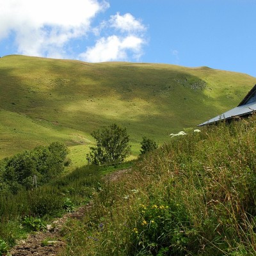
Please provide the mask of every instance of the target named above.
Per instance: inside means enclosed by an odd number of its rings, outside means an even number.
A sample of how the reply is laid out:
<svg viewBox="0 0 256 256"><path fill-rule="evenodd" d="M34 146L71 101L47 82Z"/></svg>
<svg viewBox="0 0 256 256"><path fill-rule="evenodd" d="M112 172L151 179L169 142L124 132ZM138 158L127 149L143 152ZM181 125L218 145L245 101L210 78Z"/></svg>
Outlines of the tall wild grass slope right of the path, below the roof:
<svg viewBox="0 0 256 256"><path fill-rule="evenodd" d="M170 138L94 193L60 255L255 255L255 131L253 117Z"/></svg>

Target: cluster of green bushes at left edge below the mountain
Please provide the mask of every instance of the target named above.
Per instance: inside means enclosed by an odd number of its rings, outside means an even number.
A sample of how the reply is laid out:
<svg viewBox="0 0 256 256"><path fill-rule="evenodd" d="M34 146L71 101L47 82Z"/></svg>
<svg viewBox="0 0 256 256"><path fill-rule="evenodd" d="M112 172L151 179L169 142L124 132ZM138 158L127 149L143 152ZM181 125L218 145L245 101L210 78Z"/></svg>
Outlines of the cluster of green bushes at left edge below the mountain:
<svg viewBox="0 0 256 256"><path fill-rule="evenodd" d="M0 162L0 194L17 194L21 189L40 186L59 175L64 168L68 148L63 143L26 150Z"/></svg>

